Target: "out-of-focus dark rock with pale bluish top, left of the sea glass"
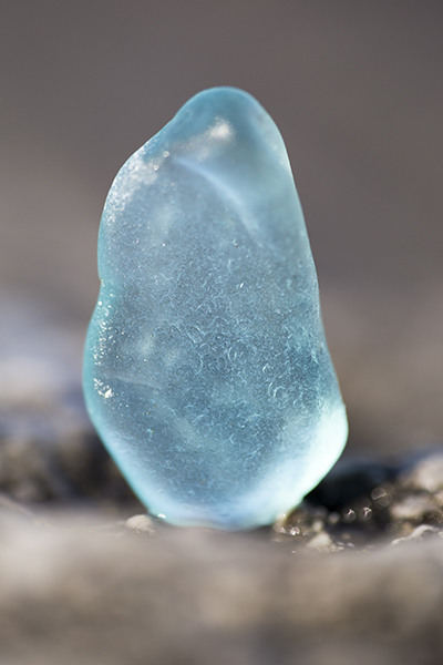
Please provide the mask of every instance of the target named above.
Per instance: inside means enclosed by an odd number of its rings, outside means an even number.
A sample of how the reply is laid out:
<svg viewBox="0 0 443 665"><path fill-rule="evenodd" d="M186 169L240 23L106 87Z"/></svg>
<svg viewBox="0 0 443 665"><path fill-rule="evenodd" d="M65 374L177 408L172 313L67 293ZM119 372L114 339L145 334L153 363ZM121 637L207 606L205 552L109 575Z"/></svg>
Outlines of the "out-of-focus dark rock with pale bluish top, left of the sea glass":
<svg viewBox="0 0 443 665"><path fill-rule="evenodd" d="M138 502L81 390L84 330L44 300L0 298L0 491L23 502Z"/></svg>

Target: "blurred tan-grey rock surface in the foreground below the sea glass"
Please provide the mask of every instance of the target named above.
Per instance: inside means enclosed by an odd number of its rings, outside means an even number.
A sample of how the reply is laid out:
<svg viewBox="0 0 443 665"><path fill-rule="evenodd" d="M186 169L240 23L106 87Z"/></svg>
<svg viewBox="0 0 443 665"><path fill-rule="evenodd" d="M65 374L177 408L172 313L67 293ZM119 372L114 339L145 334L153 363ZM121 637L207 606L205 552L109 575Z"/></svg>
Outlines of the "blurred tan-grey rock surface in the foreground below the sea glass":
<svg viewBox="0 0 443 665"><path fill-rule="evenodd" d="M257 532L153 535L45 521L1 516L6 665L443 658L441 539L324 557L293 555Z"/></svg>

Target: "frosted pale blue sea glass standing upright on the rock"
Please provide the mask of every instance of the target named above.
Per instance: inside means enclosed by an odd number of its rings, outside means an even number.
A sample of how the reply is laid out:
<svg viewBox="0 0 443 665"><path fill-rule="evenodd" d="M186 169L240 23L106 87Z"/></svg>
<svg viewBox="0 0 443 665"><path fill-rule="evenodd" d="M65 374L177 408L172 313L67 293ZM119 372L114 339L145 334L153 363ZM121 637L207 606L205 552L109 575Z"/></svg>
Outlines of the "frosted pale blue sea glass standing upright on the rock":
<svg viewBox="0 0 443 665"><path fill-rule="evenodd" d="M204 91L124 164L99 236L84 395L150 512L249 529L334 463L347 418L285 144Z"/></svg>

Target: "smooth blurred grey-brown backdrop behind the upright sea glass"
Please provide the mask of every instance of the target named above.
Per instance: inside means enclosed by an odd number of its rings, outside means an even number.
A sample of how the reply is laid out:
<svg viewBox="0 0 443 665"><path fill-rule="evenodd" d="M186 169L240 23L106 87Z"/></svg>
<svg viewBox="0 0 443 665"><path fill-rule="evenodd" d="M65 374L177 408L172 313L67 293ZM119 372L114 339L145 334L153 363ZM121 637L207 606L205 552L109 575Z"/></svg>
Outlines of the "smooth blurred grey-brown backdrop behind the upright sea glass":
<svg viewBox="0 0 443 665"><path fill-rule="evenodd" d="M235 85L287 144L349 452L441 441L442 35L436 0L3 0L0 411L78 389L114 175Z"/></svg>

